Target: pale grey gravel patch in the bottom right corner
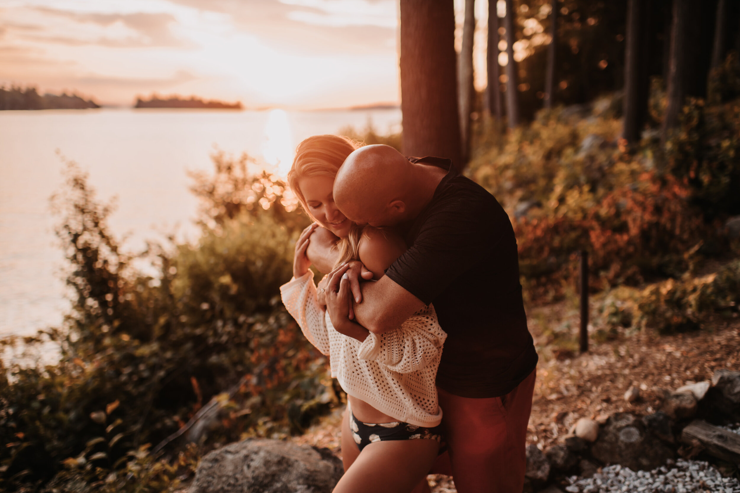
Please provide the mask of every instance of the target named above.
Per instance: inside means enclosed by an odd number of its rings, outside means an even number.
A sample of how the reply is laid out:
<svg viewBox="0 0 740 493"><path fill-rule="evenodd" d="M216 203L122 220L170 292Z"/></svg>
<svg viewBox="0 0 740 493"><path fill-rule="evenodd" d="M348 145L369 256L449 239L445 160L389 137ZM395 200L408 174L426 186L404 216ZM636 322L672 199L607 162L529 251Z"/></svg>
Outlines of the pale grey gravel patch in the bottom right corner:
<svg viewBox="0 0 740 493"><path fill-rule="evenodd" d="M628 467L608 466L593 477L572 476L568 493L740 493L740 481L722 477L717 469L700 460L669 460L652 471L633 472ZM670 468L670 469L669 469Z"/></svg>

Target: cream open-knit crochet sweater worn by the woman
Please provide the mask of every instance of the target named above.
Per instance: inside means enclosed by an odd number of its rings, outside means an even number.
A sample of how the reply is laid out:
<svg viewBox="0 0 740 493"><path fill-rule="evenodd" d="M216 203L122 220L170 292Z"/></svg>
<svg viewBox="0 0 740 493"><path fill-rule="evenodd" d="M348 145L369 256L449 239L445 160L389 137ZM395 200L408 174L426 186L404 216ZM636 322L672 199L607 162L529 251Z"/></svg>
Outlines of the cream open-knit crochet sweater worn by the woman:
<svg viewBox="0 0 740 493"><path fill-rule="evenodd" d="M280 294L306 339L329 356L332 377L345 392L398 421L440 424L434 379L447 334L434 307L423 307L396 330L369 333L360 342L334 329L317 302L311 271L280 286Z"/></svg>

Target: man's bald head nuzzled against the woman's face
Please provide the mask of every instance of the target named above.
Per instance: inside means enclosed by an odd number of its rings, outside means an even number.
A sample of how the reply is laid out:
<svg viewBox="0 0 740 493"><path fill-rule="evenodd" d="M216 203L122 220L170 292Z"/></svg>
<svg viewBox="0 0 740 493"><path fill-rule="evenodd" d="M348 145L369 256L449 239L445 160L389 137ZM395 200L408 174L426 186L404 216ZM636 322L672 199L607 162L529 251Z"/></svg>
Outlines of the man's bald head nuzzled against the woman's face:
<svg viewBox="0 0 740 493"><path fill-rule="evenodd" d="M412 165L391 146L360 147L334 178L334 202L359 223L392 225L405 211Z"/></svg>

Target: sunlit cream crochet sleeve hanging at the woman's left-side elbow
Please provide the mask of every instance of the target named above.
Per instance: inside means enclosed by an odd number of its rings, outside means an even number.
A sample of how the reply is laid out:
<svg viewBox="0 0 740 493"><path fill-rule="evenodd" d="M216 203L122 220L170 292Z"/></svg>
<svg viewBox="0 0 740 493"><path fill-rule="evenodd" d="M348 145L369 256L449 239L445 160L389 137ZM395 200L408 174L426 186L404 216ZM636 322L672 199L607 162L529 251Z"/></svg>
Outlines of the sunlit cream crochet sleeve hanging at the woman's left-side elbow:
<svg viewBox="0 0 740 493"><path fill-rule="evenodd" d="M306 272L298 279L280 286L280 297L283 299L288 313L290 313L306 339L313 344L321 354L329 356L329 333L326 331L326 317L324 310L316 299L314 275Z"/></svg>

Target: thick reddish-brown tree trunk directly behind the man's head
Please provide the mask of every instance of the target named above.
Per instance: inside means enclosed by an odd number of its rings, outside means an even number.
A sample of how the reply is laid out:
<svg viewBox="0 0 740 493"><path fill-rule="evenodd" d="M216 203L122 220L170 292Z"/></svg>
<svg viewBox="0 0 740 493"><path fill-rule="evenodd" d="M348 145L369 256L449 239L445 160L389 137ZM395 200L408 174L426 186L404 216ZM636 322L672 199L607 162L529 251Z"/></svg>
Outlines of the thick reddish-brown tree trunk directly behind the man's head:
<svg viewBox="0 0 740 493"><path fill-rule="evenodd" d="M400 10L403 152L460 169L453 0L401 0Z"/></svg>

